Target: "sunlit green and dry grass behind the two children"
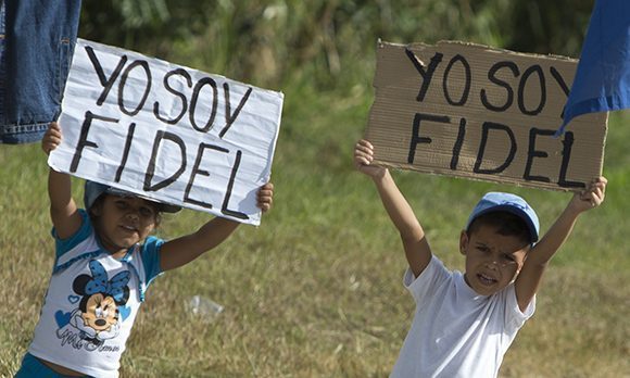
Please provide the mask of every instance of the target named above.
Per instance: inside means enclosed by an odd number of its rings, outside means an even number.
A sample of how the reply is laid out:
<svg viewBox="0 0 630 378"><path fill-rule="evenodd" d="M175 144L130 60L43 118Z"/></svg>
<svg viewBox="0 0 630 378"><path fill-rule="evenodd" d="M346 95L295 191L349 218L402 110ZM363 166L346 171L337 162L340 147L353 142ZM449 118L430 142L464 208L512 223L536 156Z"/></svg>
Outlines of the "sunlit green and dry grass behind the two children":
<svg viewBox="0 0 630 378"><path fill-rule="evenodd" d="M386 377L411 324L405 260L375 189L352 167L370 104L368 83L320 92L300 77L282 88L274 163L275 207L151 286L122 362L123 377ZM583 216L552 262L534 317L508 351L502 377L630 377L630 255L626 242L630 115L610 119L605 204ZM0 376L18 367L39 315L53 242L45 155L0 146ZM396 172L431 244L463 269L458 232L487 190L513 190L546 229L568 194ZM80 199L80 180L75 198ZM172 238L203 213L167 215ZM198 316L193 295L225 306Z"/></svg>

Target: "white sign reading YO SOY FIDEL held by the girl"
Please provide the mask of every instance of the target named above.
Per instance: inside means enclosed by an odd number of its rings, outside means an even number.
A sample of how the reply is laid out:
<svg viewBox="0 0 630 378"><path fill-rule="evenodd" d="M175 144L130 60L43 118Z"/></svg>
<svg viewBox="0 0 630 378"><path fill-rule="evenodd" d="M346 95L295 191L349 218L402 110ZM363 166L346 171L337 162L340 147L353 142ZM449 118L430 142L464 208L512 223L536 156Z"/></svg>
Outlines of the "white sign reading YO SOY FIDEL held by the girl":
<svg viewBox="0 0 630 378"><path fill-rule="evenodd" d="M284 94L78 40L49 165L259 225Z"/></svg>

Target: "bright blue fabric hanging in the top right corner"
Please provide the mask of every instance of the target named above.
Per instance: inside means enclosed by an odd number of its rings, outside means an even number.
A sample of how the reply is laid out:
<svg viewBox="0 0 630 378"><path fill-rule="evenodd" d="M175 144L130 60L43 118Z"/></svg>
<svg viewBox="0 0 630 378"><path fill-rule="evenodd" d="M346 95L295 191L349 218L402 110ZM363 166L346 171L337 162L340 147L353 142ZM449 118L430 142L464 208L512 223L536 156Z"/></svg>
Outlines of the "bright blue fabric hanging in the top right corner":
<svg viewBox="0 0 630 378"><path fill-rule="evenodd" d="M630 108L630 1L597 0L558 135L576 116Z"/></svg>

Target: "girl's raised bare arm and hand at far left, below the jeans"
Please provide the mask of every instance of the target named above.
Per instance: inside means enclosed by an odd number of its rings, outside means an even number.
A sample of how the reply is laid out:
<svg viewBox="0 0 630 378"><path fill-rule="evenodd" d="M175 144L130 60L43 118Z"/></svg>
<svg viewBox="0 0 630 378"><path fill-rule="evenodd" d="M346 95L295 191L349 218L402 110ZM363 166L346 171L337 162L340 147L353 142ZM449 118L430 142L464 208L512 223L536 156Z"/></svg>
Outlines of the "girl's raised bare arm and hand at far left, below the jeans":
<svg viewBox="0 0 630 378"><path fill-rule="evenodd" d="M51 123L46 131L41 148L46 154L61 142L61 127ZM67 174L50 168L48 174L48 197L50 199L50 218L61 239L73 236L81 226L81 217L72 198L72 182Z"/></svg>

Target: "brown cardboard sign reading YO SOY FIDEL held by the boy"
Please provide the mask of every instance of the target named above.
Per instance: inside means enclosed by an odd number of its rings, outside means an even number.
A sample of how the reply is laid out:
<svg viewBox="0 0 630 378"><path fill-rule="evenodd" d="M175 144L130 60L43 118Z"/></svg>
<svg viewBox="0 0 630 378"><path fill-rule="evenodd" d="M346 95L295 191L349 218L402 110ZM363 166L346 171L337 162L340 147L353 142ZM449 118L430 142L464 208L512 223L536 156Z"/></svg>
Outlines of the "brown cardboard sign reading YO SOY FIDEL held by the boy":
<svg viewBox="0 0 630 378"><path fill-rule="evenodd" d="M377 164L555 190L602 174L607 113L554 137L576 60L451 41L379 42L377 56Z"/></svg>

